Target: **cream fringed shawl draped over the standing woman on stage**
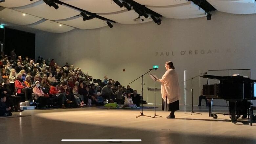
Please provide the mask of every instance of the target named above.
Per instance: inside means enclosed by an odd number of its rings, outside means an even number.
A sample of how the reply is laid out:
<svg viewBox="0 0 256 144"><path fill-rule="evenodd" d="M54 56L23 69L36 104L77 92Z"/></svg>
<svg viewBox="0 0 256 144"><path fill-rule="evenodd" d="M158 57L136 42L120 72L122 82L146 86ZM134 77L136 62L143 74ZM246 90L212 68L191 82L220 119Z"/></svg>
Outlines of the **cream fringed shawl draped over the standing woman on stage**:
<svg viewBox="0 0 256 144"><path fill-rule="evenodd" d="M162 83L161 94L164 101L166 101L166 97L168 104L181 99L178 75L174 69L167 70L160 82Z"/></svg>

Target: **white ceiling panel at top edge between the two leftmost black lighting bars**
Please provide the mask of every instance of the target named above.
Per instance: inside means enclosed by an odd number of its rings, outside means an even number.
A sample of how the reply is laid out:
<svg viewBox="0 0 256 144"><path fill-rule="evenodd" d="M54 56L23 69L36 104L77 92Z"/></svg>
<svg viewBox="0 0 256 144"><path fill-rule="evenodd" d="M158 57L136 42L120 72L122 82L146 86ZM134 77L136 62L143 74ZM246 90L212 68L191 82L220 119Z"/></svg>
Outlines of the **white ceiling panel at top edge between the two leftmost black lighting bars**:
<svg viewBox="0 0 256 144"><path fill-rule="evenodd" d="M125 10L111 0L60 0L77 8L93 13L110 13Z"/></svg>

